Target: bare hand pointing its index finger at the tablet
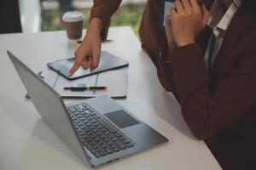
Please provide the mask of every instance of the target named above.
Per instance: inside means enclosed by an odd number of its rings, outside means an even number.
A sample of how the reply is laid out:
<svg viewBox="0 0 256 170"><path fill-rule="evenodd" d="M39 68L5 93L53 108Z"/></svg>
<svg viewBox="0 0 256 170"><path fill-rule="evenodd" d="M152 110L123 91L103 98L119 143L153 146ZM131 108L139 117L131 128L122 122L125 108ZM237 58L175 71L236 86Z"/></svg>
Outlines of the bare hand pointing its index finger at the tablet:
<svg viewBox="0 0 256 170"><path fill-rule="evenodd" d="M90 68L90 71L93 71L99 65L102 47L101 29L102 21L100 19L95 18L90 20L90 26L86 32L86 36L79 48L74 52L76 61L68 73L69 77L71 77L80 66L82 66L84 70Z"/></svg>

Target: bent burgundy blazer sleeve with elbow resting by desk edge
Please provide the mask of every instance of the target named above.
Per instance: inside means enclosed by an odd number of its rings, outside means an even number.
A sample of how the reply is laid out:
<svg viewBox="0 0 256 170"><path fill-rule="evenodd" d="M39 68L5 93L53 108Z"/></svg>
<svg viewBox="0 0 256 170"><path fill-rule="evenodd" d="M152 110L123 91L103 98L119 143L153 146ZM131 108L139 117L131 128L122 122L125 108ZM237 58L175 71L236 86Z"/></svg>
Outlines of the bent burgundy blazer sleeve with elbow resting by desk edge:
<svg viewBox="0 0 256 170"><path fill-rule="evenodd" d="M209 139L255 105L255 48L247 50L239 65L218 82L213 92L208 87L207 68L198 44L177 48L170 55L183 117L196 138Z"/></svg>

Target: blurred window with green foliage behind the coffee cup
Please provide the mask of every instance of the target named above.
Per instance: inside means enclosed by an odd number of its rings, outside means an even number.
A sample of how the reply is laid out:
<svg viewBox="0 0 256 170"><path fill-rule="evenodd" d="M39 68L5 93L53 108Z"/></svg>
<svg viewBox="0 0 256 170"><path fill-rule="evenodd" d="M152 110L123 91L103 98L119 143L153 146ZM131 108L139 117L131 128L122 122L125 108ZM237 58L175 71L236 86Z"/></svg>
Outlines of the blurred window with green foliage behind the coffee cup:
<svg viewBox="0 0 256 170"><path fill-rule="evenodd" d="M144 3L145 0L123 0L120 8L113 15L111 26L131 26L137 33ZM61 16L72 10L84 14L84 28L87 28L92 5L92 0L41 0L42 31L63 30Z"/></svg>

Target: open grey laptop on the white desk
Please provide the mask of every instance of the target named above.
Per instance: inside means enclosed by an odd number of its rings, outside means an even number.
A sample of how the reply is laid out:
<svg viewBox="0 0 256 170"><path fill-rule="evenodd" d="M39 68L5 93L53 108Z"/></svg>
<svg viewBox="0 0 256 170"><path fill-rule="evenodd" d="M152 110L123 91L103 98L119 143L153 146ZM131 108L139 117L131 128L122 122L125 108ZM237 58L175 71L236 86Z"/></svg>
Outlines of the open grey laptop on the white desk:
<svg viewBox="0 0 256 170"><path fill-rule="evenodd" d="M168 141L108 96L65 105L37 74L7 53L38 114L85 165L99 167Z"/></svg>

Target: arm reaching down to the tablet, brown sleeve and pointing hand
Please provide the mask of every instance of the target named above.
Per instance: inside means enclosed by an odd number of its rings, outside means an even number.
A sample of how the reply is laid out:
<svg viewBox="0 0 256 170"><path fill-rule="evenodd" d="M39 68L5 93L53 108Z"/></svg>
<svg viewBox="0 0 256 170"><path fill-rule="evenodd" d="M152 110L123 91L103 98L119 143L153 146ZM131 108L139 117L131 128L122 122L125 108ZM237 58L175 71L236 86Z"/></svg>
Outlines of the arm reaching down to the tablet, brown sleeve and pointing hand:
<svg viewBox="0 0 256 170"><path fill-rule="evenodd" d="M119 8L121 0L94 0L91 8L90 24L86 31L83 42L76 49L74 55L76 61L70 69L68 76L71 77L75 71L82 66L90 71L99 65L102 41L106 40L110 18Z"/></svg>

